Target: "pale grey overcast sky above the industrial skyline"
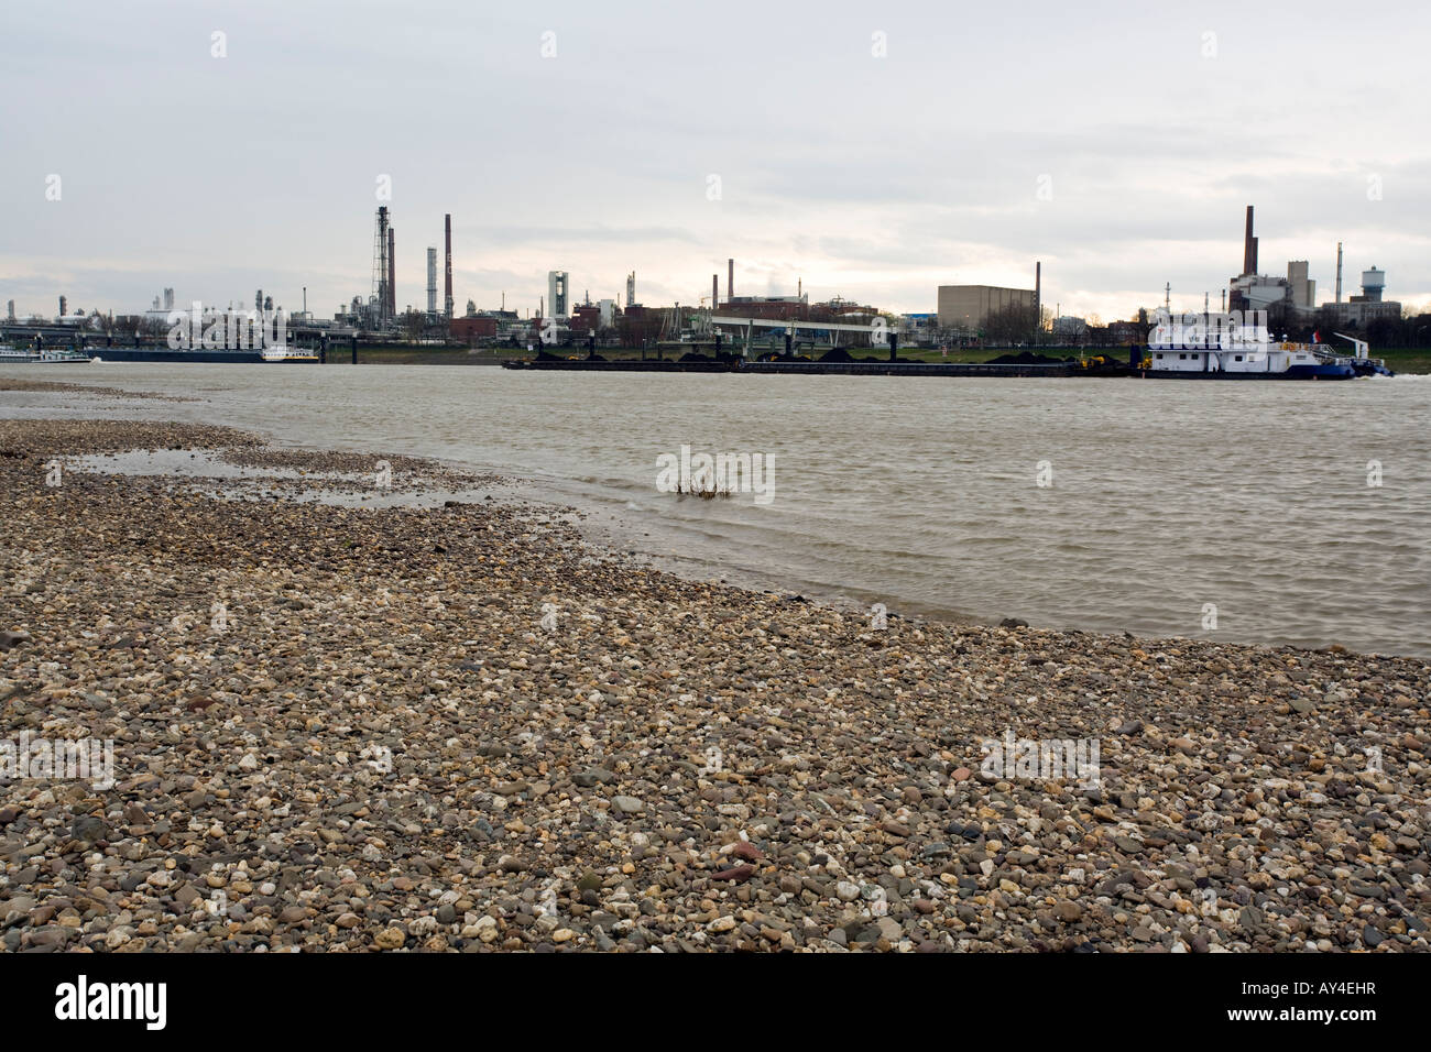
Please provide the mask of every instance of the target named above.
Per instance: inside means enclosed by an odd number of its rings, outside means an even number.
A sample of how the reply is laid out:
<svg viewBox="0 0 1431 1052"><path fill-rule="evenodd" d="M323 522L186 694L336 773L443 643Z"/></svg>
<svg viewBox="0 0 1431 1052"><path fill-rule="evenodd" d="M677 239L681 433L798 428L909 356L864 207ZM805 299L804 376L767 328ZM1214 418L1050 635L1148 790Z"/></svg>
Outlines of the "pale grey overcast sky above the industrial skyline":
<svg viewBox="0 0 1431 1052"><path fill-rule="evenodd" d="M934 309L942 283L1126 318L1308 259L1331 299L1431 298L1421 3L9 4L0 301L331 316L372 285L391 176L398 303L736 293ZM220 50L225 57L215 57ZM550 36L548 36L550 34ZM550 57L544 57L544 50ZM551 54L551 52L555 52ZM883 52L883 54L880 54ZM59 200L54 196L59 176ZM718 179L718 183L714 180ZM718 198L716 190L718 189ZM717 198L717 199L713 199ZM441 263L439 263L441 266ZM441 275L438 299L441 305Z"/></svg>

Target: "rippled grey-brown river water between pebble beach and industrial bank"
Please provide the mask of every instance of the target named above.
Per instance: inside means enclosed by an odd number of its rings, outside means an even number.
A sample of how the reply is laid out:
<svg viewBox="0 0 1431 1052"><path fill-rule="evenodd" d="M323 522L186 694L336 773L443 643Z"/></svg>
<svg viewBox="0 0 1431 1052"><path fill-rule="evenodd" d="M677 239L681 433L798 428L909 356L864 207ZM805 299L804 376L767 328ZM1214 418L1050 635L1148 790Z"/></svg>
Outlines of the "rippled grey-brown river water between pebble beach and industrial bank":
<svg viewBox="0 0 1431 1052"><path fill-rule="evenodd" d="M220 422L518 475L601 540L703 578L906 614L1431 656L1431 378L3 372L205 401L0 392L0 417ZM760 454L768 494L663 492L658 458L683 445Z"/></svg>

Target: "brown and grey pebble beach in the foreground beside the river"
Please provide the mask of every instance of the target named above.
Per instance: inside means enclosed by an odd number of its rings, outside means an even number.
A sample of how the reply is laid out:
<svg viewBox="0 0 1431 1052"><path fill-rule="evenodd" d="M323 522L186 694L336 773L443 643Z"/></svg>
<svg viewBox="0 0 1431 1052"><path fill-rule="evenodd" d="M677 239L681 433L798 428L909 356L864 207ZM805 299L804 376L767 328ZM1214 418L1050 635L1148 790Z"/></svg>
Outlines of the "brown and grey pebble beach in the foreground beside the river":
<svg viewBox="0 0 1431 1052"><path fill-rule="evenodd" d="M114 780L0 781L6 950L1431 946L1425 661L880 628L220 427L0 421L0 739Z"/></svg>

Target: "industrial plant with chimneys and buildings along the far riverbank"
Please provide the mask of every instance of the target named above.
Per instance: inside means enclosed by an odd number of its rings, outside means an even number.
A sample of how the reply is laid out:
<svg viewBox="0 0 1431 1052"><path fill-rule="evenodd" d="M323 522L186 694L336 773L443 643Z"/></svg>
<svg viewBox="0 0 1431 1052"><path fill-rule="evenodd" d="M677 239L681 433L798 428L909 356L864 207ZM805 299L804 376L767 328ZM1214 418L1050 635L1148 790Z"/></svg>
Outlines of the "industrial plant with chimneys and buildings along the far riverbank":
<svg viewBox="0 0 1431 1052"><path fill-rule="evenodd" d="M893 333L902 346L950 348L1047 345L1047 346L1118 346L1145 341L1151 308L1129 312L1129 321L1102 323L1096 318L1063 315L1059 305L1046 306L1043 263L1033 262L1030 288L993 283L939 285L930 312L893 313L876 305L847 301L840 295L811 301L803 281L794 295L737 295L736 259L726 260L724 289L721 273L711 275L710 291L691 302L647 306L637 299L635 271L627 273L624 296L597 296L584 289L574 292L567 269L547 272L545 293L525 309L508 308L507 295L495 308L479 308L467 299L462 313L455 312L452 288L452 216L442 218L442 299L438 301L438 246L426 246L426 302L421 308L398 303L396 226L392 210L378 206L372 218L371 282L332 318L319 318L308 309L308 291L302 289L302 308L285 311L272 293L256 291L255 312L282 312L289 333L299 344L328 348L339 342L365 345L402 344L429 346L489 348L527 352L555 348L660 348L661 345L703 344L750 356L764 349L859 346L871 342L871 331ZM1219 311L1262 311L1274 331L1309 335L1322 331L1357 331L1397 323L1402 305L1385 299L1387 275L1377 266L1361 272L1359 295L1342 296L1342 245L1337 245L1335 293L1317 303L1317 281L1309 276L1309 262L1288 260L1285 276L1266 275L1258 266L1258 238L1254 233L1254 208L1246 206L1241 272L1228 279L1218 293ZM1171 306L1171 285L1163 306ZM133 341L136 346L153 341L170 325L176 308L173 288L165 288L152 303L136 313L70 311L66 296L59 296L54 316L19 318L11 299L0 339L59 345L116 345ZM245 298L229 301L228 309L242 309ZM1203 306L1212 309L1211 293ZM218 309L219 305L212 305Z"/></svg>

